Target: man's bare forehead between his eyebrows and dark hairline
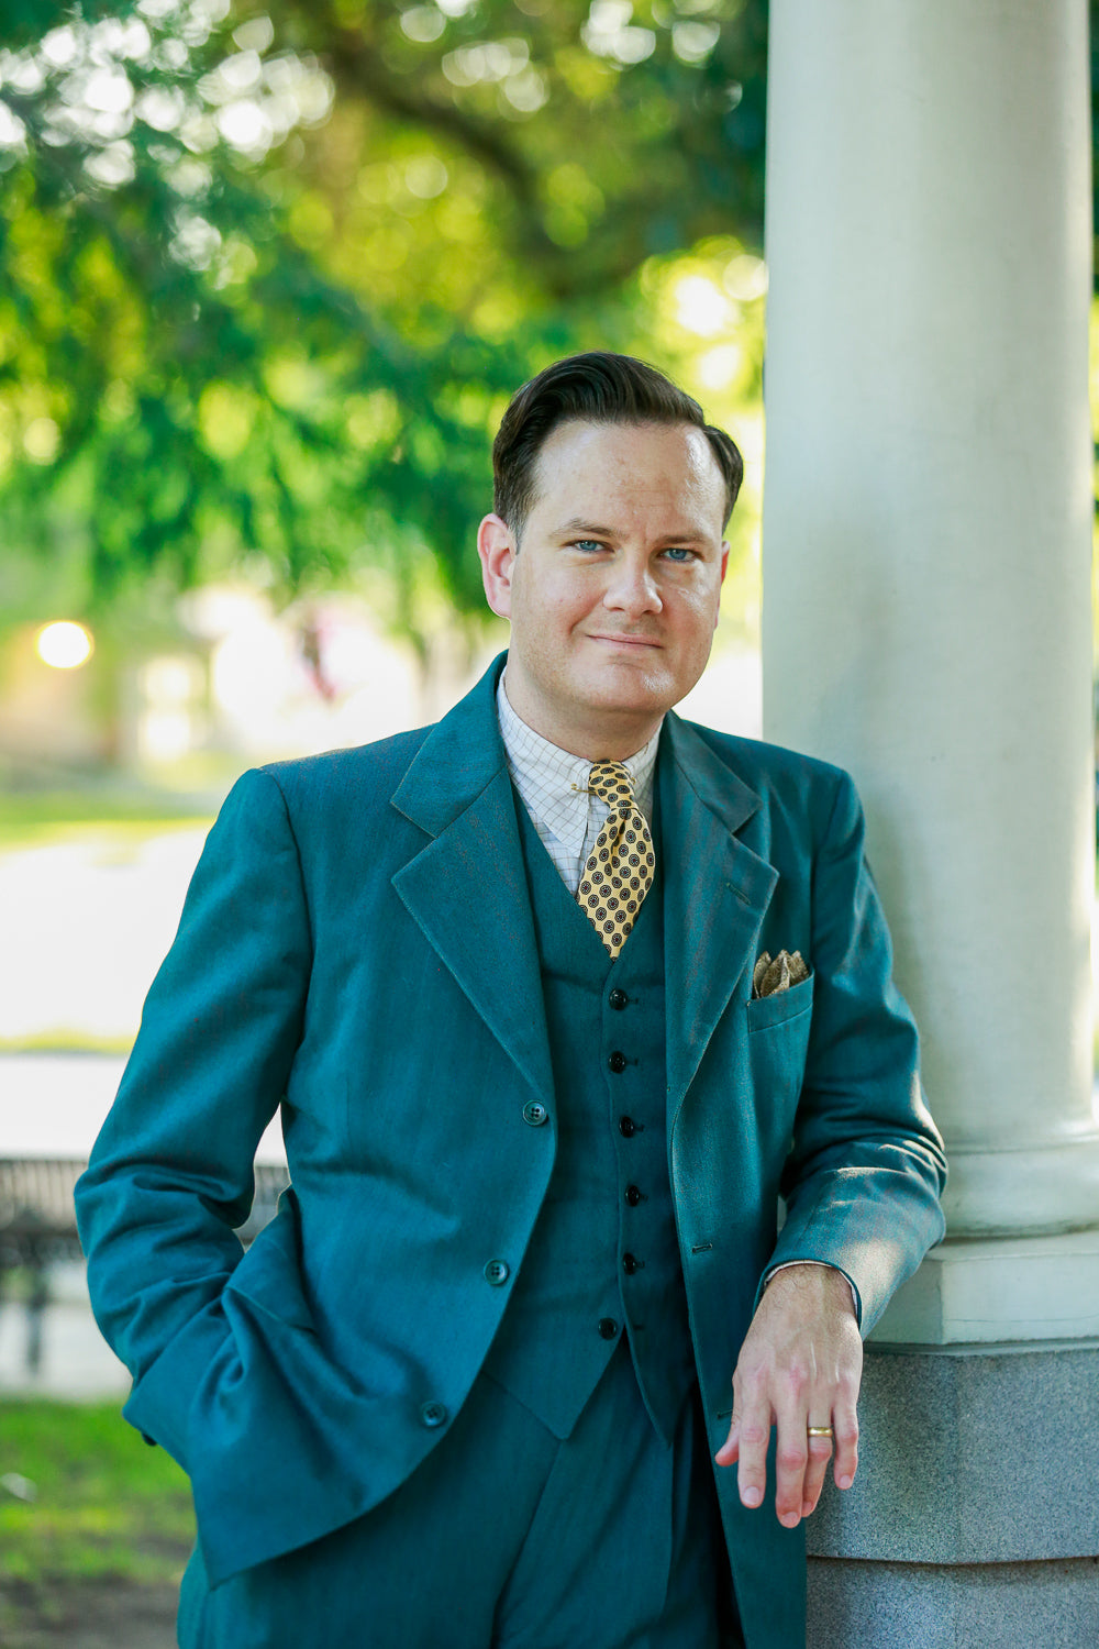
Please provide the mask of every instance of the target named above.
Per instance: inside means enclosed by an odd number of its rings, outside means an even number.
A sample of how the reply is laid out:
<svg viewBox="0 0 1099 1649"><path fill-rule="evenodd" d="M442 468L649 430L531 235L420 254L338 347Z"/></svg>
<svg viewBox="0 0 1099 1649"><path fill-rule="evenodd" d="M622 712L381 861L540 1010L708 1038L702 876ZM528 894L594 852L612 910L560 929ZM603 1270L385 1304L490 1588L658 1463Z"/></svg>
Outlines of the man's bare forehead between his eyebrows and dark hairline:
<svg viewBox="0 0 1099 1649"><path fill-rule="evenodd" d="M725 523L725 478L694 424L559 424L539 452L534 493L539 514L601 503L717 514L718 536Z"/></svg>

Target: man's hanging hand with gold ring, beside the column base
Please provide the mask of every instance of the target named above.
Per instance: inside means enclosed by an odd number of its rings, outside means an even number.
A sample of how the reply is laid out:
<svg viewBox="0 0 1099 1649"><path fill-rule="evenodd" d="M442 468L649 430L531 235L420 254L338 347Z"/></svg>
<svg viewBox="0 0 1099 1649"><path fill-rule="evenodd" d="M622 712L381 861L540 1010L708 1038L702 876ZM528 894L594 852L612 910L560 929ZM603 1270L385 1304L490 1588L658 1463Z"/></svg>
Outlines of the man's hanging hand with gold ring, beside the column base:
<svg viewBox="0 0 1099 1649"><path fill-rule="evenodd" d="M862 1339L847 1278L822 1265L776 1271L751 1319L733 1374L733 1423L715 1459L738 1461L745 1506L761 1506L771 1425L778 1426L774 1509L786 1529L807 1517L824 1486L835 1433L834 1478L850 1489L858 1464Z"/></svg>

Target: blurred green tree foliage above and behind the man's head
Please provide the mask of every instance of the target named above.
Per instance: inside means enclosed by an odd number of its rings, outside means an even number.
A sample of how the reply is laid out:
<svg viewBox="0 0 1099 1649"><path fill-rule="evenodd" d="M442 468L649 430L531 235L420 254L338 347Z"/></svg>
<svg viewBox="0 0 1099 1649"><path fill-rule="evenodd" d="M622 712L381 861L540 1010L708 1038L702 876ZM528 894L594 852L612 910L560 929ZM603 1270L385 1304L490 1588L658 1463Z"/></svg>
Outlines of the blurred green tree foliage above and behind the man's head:
<svg viewBox="0 0 1099 1649"><path fill-rule="evenodd" d="M59 577L97 618L247 564L278 599L381 569L423 648L440 602L476 625L507 394L575 348L662 359L652 261L758 241L765 20L3 5L8 622Z"/></svg>

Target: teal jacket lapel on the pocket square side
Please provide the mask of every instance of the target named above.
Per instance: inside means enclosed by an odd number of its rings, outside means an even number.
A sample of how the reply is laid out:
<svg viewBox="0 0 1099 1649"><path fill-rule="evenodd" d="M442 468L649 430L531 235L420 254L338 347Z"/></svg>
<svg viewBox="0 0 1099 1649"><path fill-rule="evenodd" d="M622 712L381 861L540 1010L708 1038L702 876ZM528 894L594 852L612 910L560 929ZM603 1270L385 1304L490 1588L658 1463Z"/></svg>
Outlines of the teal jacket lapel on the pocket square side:
<svg viewBox="0 0 1099 1649"><path fill-rule="evenodd" d="M778 871L737 836L760 796L674 716L667 739L661 815L671 1130L737 981L755 960Z"/></svg>

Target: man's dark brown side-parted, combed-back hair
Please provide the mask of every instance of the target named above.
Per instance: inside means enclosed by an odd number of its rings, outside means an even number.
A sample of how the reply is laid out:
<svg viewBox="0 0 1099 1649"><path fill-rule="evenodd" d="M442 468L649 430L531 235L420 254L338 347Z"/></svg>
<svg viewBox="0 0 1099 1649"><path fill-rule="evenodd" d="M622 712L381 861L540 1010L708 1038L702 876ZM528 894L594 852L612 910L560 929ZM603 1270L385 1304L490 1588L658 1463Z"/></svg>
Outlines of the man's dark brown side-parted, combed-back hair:
<svg viewBox="0 0 1099 1649"><path fill-rule="evenodd" d="M737 442L707 424L697 401L633 355L590 350L555 361L512 397L493 442L494 510L521 536L537 501L535 468L559 424L694 424L710 442L725 480L725 521L745 475Z"/></svg>

